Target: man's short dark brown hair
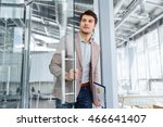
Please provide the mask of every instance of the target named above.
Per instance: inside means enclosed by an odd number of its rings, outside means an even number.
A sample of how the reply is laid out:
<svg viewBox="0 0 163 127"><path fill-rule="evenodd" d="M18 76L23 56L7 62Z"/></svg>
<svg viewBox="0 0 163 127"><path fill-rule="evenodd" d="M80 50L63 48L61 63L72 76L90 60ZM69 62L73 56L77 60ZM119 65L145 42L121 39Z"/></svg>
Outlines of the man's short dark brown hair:
<svg viewBox="0 0 163 127"><path fill-rule="evenodd" d="M80 16L79 16L79 22L82 21L84 15L92 16L95 18L95 24L97 24L98 17L97 17L97 15L96 15L96 13L93 11L87 10L86 12L82 13Z"/></svg>

